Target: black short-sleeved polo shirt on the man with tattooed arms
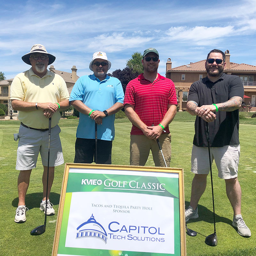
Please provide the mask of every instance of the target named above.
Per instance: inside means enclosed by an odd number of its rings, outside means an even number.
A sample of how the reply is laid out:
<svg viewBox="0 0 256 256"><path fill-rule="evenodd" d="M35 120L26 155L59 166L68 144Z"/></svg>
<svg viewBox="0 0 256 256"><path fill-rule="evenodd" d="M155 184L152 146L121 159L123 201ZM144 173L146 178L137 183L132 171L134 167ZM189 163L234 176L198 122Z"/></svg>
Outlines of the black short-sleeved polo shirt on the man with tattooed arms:
<svg viewBox="0 0 256 256"><path fill-rule="evenodd" d="M244 97L244 87L238 76L222 74L218 81L212 83L208 77L196 81L190 86L188 101L193 100L202 105L222 103L234 96ZM239 112L215 112L216 120L208 123L211 147L223 147L239 144ZM195 136L193 144L197 147L207 147L205 121L196 116Z"/></svg>

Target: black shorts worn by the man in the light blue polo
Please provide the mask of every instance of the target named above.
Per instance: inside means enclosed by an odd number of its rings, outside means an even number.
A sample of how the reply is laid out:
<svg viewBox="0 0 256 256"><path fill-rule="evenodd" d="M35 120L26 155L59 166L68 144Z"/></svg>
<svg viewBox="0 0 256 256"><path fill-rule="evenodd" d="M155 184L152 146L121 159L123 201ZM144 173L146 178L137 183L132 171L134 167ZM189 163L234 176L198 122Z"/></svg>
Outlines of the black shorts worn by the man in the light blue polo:
<svg viewBox="0 0 256 256"><path fill-rule="evenodd" d="M95 159L95 139L76 138L74 163L111 164L112 140L97 140L97 160Z"/></svg>

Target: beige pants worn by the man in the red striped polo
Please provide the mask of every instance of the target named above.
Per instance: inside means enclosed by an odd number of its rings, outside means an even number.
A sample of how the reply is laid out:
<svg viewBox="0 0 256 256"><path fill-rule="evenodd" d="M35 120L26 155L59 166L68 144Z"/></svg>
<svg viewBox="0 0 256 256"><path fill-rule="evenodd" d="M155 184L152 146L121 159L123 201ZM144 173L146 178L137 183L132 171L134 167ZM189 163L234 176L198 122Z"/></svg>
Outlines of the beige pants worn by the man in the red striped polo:
<svg viewBox="0 0 256 256"><path fill-rule="evenodd" d="M160 145L164 154L167 166L171 161L171 133L162 134L159 137ZM155 140L148 139L145 135L131 135L130 143L130 165L144 166L148 160L149 150L151 149L155 166L165 167L158 144Z"/></svg>

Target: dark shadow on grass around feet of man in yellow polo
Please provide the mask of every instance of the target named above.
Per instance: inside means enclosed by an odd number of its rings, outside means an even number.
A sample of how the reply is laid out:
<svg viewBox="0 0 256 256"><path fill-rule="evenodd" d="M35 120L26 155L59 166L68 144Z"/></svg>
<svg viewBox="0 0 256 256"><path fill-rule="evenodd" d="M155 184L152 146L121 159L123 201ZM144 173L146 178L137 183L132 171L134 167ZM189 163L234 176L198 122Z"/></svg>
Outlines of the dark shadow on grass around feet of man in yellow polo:
<svg viewBox="0 0 256 256"><path fill-rule="evenodd" d="M26 206L28 209L39 208L40 202L43 198L43 193L31 193L26 195ZM57 205L60 202L60 194L51 192L50 201L53 205ZM17 207L19 198L16 197L12 200L12 206Z"/></svg>

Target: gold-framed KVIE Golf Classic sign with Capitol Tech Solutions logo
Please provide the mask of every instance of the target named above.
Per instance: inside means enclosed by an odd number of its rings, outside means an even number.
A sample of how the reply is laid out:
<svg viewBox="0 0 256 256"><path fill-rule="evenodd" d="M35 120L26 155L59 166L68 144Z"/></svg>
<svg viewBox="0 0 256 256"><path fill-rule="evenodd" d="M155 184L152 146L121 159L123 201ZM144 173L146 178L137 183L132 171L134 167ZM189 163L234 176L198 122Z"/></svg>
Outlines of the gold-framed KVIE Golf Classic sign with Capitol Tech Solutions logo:
<svg viewBox="0 0 256 256"><path fill-rule="evenodd" d="M183 170L66 164L53 256L186 255Z"/></svg>

